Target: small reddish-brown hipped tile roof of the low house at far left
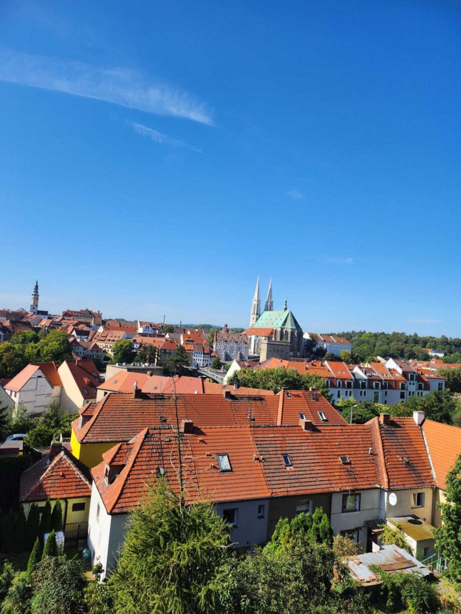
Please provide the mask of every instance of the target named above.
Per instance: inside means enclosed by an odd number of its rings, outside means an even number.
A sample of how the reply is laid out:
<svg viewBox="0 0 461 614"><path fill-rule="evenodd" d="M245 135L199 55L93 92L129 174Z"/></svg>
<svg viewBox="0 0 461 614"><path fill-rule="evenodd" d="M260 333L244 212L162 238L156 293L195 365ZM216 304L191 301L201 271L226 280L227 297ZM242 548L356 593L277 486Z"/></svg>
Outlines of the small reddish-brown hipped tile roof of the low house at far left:
<svg viewBox="0 0 461 614"><path fill-rule="evenodd" d="M21 474L19 500L90 497L91 483L89 469L63 447L51 461L46 455Z"/></svg>

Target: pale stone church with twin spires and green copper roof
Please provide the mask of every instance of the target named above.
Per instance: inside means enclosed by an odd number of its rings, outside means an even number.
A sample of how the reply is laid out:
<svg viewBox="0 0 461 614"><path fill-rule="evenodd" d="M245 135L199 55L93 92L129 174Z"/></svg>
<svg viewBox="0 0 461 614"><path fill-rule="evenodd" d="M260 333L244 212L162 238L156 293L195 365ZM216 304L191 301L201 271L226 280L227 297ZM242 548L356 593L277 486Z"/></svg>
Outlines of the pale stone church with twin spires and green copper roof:
<svg viewBox="0 0 461 614"><path fill-rule="evenodd" d="M272 300L272 278L267 290L264 311L261 313L261 298L259 297L259 277L256 281L253 303L251 305L250 327L245 331L250 337L250 356L259 356L259 360L269 358L289 359L302 357L303 338L299 326L291 310L286 307L274 311Z"/></svg>

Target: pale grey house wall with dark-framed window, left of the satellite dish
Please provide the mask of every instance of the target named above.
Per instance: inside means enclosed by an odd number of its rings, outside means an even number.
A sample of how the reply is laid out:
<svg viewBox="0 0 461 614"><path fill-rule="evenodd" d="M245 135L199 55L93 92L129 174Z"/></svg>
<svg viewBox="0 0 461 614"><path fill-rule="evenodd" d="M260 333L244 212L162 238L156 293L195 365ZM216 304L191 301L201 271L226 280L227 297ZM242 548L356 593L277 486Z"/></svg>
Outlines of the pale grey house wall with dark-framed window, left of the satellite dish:
<svg viewBox="0 0 461 614"><path fill-rule="evenodd" d="M331 495L331 526L334 534L345 530L360 529L358 540L366 549L368 527L367 520L376 520L380 514L380 489L374 488L366 491L351 491L351 494L360 494L360 509L358 511L342 511L343 495L349 492L334 492Z"/></svg>

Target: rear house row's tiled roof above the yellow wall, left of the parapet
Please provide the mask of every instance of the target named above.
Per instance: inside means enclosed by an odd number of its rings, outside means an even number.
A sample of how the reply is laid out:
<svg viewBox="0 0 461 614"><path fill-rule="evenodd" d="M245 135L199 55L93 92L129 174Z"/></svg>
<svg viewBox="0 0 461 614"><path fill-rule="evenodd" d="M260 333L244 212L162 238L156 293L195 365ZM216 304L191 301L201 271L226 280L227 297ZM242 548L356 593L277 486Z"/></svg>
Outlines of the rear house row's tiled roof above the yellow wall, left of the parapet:
<svg viewBox="0 0 461 614"><path fill-rule="evenodd" d="M229 393L227 393L229 394ZM178 394L179 419L187 418L203 426L243 426L252 424L275 424L278 398L274 395L224 394ZM92 416L87 424L78 429L79 418L72 424L81 443L98 441L128 441L149 426L162 426L175 422L173 394L108 394L94 407L79 412ZM165 422L160 420L165 417Z"/></svg>

